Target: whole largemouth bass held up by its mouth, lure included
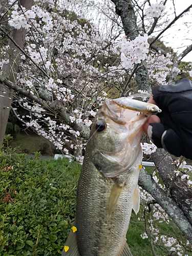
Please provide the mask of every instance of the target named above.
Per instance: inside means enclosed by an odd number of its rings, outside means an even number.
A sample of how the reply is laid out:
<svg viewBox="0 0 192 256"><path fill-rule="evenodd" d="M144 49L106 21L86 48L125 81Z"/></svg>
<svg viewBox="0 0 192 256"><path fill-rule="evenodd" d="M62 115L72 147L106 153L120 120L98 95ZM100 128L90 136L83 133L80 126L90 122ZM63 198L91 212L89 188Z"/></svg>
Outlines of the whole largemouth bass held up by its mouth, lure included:
<svg viewBox="0 0 192 256"><path fill-rule="evenodd" d="M139 211L142 126L154 108L159 111L152 105L105 98L92 124L77 185L76 217L62 256L132 255L126 233L132 209Z"/></svg>

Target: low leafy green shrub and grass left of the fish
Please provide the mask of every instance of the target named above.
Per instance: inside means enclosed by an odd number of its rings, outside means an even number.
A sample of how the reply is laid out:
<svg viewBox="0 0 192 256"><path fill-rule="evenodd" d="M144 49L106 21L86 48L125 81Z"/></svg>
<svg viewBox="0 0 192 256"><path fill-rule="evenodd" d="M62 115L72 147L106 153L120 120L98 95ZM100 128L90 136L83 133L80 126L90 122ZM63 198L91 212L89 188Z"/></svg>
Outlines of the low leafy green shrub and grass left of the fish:
<svg viewBox="0 0 192 256"><path fill-rule="evenodd" d="M60 255L81 166L0 150L0 255Z"/></svg>

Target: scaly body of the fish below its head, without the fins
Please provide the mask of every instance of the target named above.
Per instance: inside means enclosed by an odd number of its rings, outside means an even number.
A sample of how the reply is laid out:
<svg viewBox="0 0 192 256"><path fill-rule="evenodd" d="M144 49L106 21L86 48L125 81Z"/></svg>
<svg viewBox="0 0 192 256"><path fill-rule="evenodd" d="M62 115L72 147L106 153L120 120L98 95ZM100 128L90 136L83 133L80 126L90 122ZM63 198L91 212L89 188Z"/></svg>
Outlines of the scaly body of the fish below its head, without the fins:
<svg viewBox="0 0 192 256"><path fill-rule="evenodd" d="M133 194L139 170L129 170L116 179L105 178L87 157L77 188L77 246L81 256L117 256L126 243ZM119 179L122 189L117 204L109 214L112 188Z"/></svg>

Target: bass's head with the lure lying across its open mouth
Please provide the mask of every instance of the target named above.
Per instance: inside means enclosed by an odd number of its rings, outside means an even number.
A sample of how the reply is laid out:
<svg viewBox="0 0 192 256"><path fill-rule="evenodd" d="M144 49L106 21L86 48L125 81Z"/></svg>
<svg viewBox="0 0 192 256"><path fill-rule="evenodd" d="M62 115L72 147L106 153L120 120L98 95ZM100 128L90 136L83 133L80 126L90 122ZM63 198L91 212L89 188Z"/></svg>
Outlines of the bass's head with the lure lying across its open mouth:
<svg viewBox="0 0 192 256"><path fill-rule="evenodd" d="M113 178L130 169L135 159L142 154L140 139L143 124L148 116L160 112L155 104L125 97L113 100L106 98L93 123L95 127L100 125L98 131L93 130L94 144L99 143L93 161L99 172ZM111 169L116 171L112 173Z"/></svg>

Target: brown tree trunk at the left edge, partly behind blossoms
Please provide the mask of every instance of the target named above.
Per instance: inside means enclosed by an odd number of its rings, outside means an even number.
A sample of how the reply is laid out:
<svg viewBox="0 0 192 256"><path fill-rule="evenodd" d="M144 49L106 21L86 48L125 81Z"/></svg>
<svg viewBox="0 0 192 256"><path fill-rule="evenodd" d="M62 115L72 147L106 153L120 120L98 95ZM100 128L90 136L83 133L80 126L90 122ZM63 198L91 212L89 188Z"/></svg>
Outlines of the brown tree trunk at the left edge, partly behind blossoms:
<svg viewBox="0 0 192 256"><path fill-rule="evenodd" d="M20 0L18 1L20 5L26 9L30 9L33 5L33 0ZM16 42L16 44L23 49L26 37L26 29L13 29L10 33L11 38ZM6 58L9 57L9 63L3 65L2 73L3 76L8 78L11 82L16 83L17 73L19 71L19 61L20 61L20 50L15 47L11 40L8 40L8 45L10 46L10 52L7 54ZM9 111L11 108L11 102L13 98L14 91L5 86L5 84L0 84L0 146L3 144L4 135L6 131L7 121L9 118Z"/></svg>

